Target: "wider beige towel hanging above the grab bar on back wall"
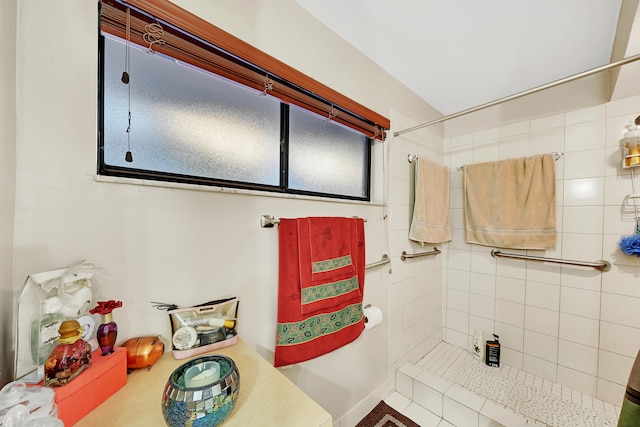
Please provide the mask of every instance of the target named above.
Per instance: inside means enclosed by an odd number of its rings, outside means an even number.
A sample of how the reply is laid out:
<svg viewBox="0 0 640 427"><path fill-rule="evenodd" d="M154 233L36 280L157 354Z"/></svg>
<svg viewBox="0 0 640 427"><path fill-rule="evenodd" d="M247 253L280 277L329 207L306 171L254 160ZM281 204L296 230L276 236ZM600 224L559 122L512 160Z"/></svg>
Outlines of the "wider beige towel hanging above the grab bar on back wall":
<svg viewBox="0 0 640 427"><path fill-rule="evenodd" d="M467 243L512 249L556 245L553 155L464 167Z"/></svg>

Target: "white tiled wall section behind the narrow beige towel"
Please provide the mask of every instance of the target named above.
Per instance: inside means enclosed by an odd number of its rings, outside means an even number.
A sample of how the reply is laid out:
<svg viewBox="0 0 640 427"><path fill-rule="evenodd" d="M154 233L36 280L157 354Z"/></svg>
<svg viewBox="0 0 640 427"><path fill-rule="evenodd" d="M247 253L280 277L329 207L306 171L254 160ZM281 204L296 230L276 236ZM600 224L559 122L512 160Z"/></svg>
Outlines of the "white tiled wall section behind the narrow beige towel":
<svg viewBox="0 0 640 427"><path fill-rule="evenodd" d="M392 123L396 129L416 125L397 111ZM385 143L386 144L386 143ZM442 137L429 130L394 138L386 144L388 165L387 221L391 264L389 272L389 366L387 391L395 388L396 370L405 363L416 363L442 340L443 255L402 261L403 251L419 253L433 250L409 241L413 205L414 154L443 162ZM437 245L442 249L442 245Z"/></svg>

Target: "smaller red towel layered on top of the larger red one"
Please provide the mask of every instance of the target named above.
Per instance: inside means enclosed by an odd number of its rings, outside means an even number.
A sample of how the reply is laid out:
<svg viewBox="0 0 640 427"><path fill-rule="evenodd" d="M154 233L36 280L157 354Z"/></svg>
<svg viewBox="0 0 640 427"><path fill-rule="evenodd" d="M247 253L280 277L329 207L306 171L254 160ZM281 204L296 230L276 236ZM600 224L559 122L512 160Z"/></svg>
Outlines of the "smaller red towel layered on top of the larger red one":
<svg viewBox="0 0 640 427"><path fill-rule="evenodd" d="M301 312L313 313L361 297L357 266L364 259L358 250L356 220L314 217L296 222Z"/></svg>

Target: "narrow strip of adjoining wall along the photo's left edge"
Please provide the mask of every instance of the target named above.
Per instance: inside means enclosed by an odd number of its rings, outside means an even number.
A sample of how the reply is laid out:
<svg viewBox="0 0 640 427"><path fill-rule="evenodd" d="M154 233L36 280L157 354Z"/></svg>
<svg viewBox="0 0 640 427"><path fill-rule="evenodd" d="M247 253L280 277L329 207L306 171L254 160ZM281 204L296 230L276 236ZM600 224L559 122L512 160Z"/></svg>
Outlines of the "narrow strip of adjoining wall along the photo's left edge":
<svg viewBox="0 0 640 427"><path fill-rule="evenodd" d="M13 220L16 184L16 1L0 3L0 384L13 375Z"/></svg>

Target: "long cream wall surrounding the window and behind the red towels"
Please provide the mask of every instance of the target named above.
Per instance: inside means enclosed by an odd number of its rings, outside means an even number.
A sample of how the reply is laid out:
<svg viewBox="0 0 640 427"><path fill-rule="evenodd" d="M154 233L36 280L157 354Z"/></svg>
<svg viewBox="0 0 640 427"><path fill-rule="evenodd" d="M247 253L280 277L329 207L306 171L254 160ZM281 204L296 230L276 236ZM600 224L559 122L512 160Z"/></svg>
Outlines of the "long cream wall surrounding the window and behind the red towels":
<svg viewBox="0 0 640 427"><path fill-rule="evenodd" d="M412 123L437 115L293 0L176 3L384 115L403 111L403 120ZM5 4L3 17L11 9ZM365 303L380 306L386 320L356 342L282 372L337 423L353 425L393 387L394 377L388 374L397 364L416 361L440 339L435 283L442 257L402 263L399 256L409 249L405 151L441 158L441 128L430 131L428 149L421 140L409 145L398 141L393 148L391 137L376 143L373 203L97 181L97 3L15 4L15 119L12 102L3 97L0 104L0 111L8 113L0 119L8 120L8 136L12 122L17 134L15 154L11 138L7 143L3 134L0 160L6 170L16 170L15 187L11 179L0 184L9 203L15 188L15 218L3 216L0 222L14 234L12 239L2 233L3 245L14 244L7 250L9 257L0 260L0 279L13 283L14 297L29 273L85 259L107 272L96 277L98 299L124 303L114 312L119 342L170 335L168 316L153 309L151 301L186 306L238 296L240 337L269 358L275 340L277 230L260 228L260 215L357 215L367 218L367 262L383 253L392 258L391 273L389 266L372 269L365 284ZM11 32L2 31L9 36L3 58L11 57ZM0 69L0 82L10 85L10 62L3 61ZM3 323L3 333L11 329L11 322ZM6 348L2 346L5 359Z"/></svg>

